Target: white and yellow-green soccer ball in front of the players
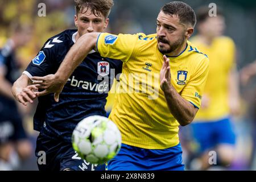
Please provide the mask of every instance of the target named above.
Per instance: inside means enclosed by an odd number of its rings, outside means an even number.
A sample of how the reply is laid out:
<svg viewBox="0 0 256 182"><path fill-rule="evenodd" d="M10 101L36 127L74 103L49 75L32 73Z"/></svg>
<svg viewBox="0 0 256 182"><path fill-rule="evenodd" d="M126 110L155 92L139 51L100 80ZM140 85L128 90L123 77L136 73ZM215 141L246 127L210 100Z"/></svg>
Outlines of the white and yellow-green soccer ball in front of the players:
<svg viewBox="0 0 256 182"><path fill-rule="evenodd" d="M86 162L102 164L119 152L121 133L110 119L92 115L77 124L72 134L72 146Z"/></svg>

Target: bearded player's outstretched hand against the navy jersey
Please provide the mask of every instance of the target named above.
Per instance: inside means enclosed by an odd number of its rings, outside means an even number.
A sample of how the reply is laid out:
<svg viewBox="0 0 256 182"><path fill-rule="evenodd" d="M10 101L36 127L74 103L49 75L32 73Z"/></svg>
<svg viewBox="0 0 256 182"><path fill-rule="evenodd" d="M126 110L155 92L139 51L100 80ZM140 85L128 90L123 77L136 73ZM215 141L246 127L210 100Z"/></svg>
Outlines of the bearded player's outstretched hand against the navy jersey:
<svg viewBox="0 0 256 182"><path fill-rule="evenodd" d="M54 100L59 102L60 93L65 85L64 80L61 80L56 75L47 75L44 77L34 76L31 79L33 80L33 84L36 84L37 88L44 89L42 92L38 93L38 96L45 96L49 93L55 93Z"/></svg>

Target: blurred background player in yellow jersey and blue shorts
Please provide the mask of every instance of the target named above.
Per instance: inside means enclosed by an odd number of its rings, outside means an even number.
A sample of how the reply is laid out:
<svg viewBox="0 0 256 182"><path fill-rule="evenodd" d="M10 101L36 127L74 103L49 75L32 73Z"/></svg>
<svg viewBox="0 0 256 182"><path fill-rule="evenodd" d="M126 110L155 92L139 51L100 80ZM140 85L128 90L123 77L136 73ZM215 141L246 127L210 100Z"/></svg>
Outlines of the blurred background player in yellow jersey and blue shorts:
<svg viewBox="0 0 256 182"><path fill-rule="evenodd" d="M217 152L217 164L226 166L234 158L235 135L230 121L238 113L238 77L235 63L235 45L232 39L222 36L225 20L221 11L210 17L207 7L197 12L199 34L191 39L209 56L210 69L201 109L196 114L192 131L200 145L201 169L207 169L209 151Z"/></svg>

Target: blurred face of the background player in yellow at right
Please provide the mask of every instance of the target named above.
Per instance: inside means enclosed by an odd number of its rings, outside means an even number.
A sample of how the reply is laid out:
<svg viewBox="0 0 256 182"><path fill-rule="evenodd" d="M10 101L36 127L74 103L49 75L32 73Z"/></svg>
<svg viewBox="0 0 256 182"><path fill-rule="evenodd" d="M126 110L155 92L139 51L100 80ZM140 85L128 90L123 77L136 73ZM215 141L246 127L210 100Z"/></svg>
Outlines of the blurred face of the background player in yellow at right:
<svg viewBox="0 0 256 182"><path fill-rule="evenodd" d="M206 36L221 36L225 30L225 19L223 16L208 17L199 26L199 31Z"/></svg>

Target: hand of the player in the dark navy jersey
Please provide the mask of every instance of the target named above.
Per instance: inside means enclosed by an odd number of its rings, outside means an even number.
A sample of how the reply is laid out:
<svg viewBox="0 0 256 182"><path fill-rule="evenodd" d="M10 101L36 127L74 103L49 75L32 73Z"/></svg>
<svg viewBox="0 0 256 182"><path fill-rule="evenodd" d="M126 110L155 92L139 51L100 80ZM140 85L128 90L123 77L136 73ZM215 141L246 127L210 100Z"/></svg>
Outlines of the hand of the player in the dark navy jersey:
<svg viewBox="0 0 256 182"><path fill-rule="evenodd" d="M26 88L20 89L14 94L17 101L27 106L27 102L33 103L33 100L38 97L38 88L36 85L28 85Z"/></svg>

